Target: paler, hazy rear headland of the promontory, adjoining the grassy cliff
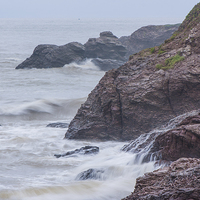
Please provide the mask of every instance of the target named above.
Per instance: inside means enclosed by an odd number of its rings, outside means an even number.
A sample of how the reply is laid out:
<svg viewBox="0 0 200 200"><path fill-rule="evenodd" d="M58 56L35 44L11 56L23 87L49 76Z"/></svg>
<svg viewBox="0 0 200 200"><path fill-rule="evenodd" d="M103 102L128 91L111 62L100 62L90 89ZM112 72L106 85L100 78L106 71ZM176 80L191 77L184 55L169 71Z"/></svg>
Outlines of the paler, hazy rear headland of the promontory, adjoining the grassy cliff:
<svg viewBox="0 0 200 200"><path fill-rule="evenodd" d="M161 45L178 29L180 24L144 26L133 32L130 36L123 36L119 41L126 47L126 57L143 49Z"/></svg>

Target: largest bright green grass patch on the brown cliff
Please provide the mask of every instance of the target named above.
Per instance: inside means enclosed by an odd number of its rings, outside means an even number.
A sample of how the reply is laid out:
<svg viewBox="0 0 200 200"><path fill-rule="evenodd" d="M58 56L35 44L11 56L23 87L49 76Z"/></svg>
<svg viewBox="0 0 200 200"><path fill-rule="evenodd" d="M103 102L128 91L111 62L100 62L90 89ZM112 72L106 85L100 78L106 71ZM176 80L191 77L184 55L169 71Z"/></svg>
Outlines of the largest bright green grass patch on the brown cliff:
<svg viewBox="0 0 200 200"><path fill-rule="evenodd" d="M157 69L164 69L164 70L172 69L176 63L178 63L178 62L180 62L184 59L185 59L184 56L180 56L180 55L176 54L175 56L173 56L171 58L167 58L165 60L164 65L163 64L157 64L156 68Z"/></svg>

